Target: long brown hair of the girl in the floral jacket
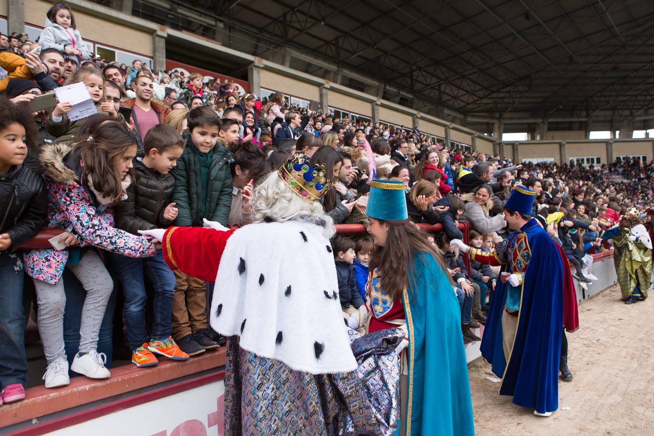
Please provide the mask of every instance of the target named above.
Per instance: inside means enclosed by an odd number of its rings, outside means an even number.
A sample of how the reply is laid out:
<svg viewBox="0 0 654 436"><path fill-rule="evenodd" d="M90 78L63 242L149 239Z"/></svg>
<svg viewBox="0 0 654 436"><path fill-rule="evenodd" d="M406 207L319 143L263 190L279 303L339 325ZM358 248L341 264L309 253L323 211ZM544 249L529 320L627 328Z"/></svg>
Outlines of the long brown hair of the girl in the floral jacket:
<svg viewBox="0 0 654 436"><path fill-rule="evenodd" d="M75 144L73 150L84 163L84 181L90 177L93 188L112 201L122 201L122 175L116 171L116 160L128 150L136 146L135 137L126 127L116 122L103 122L89 130L90 141L84 138ZM128 175L134 180L135 173L129 170Z"/></svg>

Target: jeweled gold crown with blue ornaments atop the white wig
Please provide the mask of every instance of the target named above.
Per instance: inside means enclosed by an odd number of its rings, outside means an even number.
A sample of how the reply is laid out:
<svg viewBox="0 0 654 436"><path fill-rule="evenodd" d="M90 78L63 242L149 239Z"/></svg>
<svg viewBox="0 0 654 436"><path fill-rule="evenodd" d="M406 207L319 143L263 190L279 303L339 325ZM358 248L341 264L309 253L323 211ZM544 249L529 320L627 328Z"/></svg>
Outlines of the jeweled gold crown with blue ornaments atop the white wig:
<svg viewBox="0 0 654 436"><path fill-rule="evenodd" d="M328 180L324 165L309 165L304 153L291 156L288 162L279 167L277 174L293 192L309 203L320 200L336 183L336 179L332 182Z"/></svg>

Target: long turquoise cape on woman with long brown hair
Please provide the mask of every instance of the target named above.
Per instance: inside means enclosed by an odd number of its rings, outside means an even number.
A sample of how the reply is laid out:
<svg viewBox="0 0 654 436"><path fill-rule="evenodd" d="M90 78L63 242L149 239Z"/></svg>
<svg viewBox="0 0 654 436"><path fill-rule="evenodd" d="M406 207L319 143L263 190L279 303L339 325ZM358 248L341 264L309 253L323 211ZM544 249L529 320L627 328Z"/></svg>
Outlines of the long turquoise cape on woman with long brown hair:
<svg viewBox="0 0 654 436"><path fill-rule="evenodd" d="M474 435L461 312L443 268L425 252L409 269L409 310L413 333L411 435ZM404 308L409 326L409 310ZM409 345L409 348L411 345ZM409 352L409 356L411 353ZM409 365L409 368L411 365Z"/></svg>

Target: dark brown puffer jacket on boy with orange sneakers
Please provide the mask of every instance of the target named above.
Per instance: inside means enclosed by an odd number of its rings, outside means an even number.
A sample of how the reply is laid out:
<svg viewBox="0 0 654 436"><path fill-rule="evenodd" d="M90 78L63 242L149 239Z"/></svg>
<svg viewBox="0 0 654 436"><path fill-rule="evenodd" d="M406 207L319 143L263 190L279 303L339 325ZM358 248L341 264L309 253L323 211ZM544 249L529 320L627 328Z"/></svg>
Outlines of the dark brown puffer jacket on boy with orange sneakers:
<svg viewBox="0 0 654 436"><path fill-rule="evenodd" d="M127 199L114 206L116 227L139 235L139 230L170 226L173 222L164 220L162 214L171 203L175 177L146 167L141 158L135 158L133 163L137 179L127 188Z"/></svg>

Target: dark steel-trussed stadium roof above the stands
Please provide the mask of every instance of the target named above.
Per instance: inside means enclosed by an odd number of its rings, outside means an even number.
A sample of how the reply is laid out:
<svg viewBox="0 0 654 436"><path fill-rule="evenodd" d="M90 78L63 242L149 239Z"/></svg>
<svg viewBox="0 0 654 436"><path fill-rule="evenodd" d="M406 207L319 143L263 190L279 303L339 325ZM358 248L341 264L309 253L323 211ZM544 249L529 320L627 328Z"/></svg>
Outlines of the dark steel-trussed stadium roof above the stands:
<svg viewBox="0 0 654 436"><path fill-rule="evenodd" d="M415 109L496 118L638 115L654 105L652 0L175 3L249 28L258 54L311 54L411 95Z"/></svg>

